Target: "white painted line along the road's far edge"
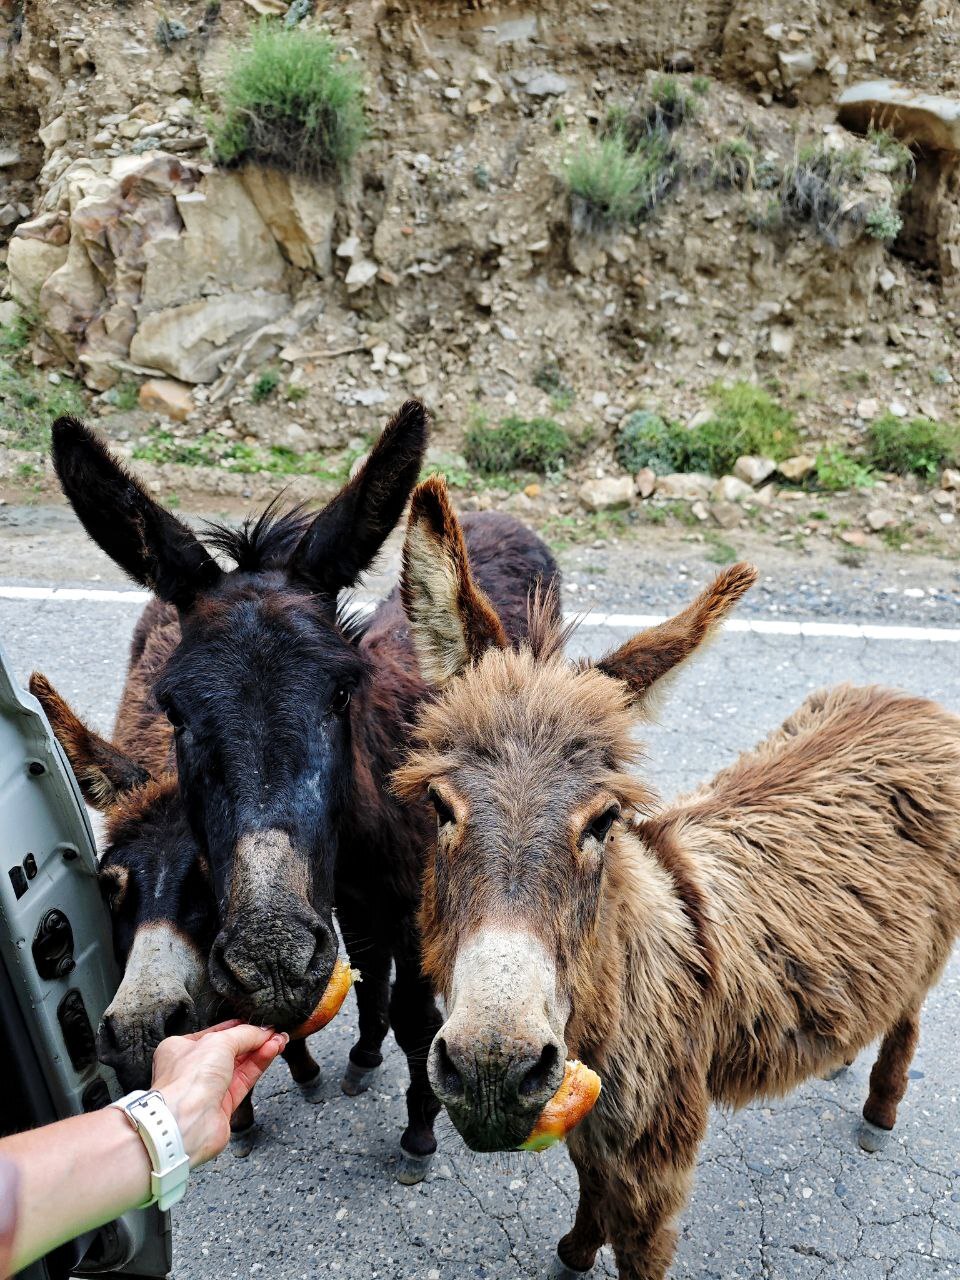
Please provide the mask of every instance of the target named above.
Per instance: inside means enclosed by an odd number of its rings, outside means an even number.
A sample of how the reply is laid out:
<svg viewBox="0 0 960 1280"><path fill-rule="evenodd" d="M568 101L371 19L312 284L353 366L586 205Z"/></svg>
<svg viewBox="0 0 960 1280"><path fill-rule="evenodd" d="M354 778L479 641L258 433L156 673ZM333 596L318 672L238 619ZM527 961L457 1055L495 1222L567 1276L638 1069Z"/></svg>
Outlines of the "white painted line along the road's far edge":
<svg viewBox="0 0 960 1280"><path fill-rule="evenodd" d="M150 599L148 591L110 590L86 586L0 586L0 600L87 600L104 604L129 604L141 607ZM375 602L355 600L353 608L369 613ZM663 613L564 613L572 622L588 631L634 630L653 627L663 622ZM913 640L936 644L960 644L960 628L899 626L874 622L804 622L796 618L733 618L724 630L753 632L768 636L810 636L832 640Z"/></svg>

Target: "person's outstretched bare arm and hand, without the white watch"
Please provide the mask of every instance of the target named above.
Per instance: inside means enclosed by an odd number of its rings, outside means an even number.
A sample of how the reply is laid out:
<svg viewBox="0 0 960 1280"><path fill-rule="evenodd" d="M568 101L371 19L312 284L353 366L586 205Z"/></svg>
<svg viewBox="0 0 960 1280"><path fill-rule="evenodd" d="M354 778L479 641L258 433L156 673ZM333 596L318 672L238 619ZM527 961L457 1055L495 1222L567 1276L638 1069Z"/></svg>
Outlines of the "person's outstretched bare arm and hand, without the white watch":
<svg viewBox="0 0 960 1280"><path fill-rule="evenodd" d="M193 1036L173 1036L154 1057L154 1088L177 1119L191 1167L223 1151L230 1115L287 1043L261 1027L224 1023ZM0 1161L15 1178L0 1174L0 1276L83 1231L142 1204L150 1196L150 1158L140 1134L114 1107L72 1116L42 1129L0 1140ZM4 1256L4 1210L15 1192L14 1225Z"/></svg>

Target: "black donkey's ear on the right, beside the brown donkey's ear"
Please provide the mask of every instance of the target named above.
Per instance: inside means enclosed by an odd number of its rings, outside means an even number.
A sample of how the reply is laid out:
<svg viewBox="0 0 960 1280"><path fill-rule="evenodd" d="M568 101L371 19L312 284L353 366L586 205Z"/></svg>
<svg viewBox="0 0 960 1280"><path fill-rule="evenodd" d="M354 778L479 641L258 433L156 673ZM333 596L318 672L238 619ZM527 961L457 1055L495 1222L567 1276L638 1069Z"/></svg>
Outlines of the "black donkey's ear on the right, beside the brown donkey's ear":
<svg viewBox="0 0 960 1280"><path fill-rule="evenodd" d="M311 522L291 572L324 595L352 586L383 547L407 504L426 448L428 417L407 401L349 484Z"/></svg>

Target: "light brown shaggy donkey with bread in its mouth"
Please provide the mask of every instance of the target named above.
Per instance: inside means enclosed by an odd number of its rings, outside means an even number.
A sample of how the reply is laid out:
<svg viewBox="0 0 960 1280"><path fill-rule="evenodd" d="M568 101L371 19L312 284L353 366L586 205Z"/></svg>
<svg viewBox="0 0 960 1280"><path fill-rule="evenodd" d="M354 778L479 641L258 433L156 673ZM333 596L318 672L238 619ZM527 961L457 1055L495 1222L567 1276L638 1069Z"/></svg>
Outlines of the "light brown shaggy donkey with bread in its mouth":
<svg viewBox="0 0 960 1280"><path fill-rule="evenodd" d="M444 677L396 780L438 813L421 923L448 1019L430 1080L492 1151L527 1137L566 1059L596 1070L553 1274L588 1271L609 1242L621 1276L660 1280L712 1100L786 1093L881 1038L864 1144L892 1128L960 929L960 719L883 689L815 694L663 808L631 731L753 568L571 664L536 605L529 643L504 644L435 481L404 557L421 664Z"/></svg>

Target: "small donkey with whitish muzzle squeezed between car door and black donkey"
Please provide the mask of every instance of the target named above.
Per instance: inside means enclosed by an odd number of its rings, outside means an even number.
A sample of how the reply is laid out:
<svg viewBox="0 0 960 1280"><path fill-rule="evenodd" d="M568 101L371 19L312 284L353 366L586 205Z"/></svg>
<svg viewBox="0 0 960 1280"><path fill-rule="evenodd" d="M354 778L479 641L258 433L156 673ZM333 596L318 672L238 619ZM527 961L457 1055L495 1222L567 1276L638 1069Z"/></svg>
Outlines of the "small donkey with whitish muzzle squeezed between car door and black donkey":
<svg viewBox="0 0 960 1280"><path fill-rule="evenodd" d="M83 797L105 817L100 887L123 977L104 1011L97 1053L124 1089L150 1085L154 1050L165 1036L229 1014L207 977L218 928L210 874L183 812L173 730L150 694L178 636L175 612L151 602L133 632L113 741L88 728L46 676L35 672L29 682ZM284 1057L298 1084L317 1080L303 1041L291 1042ZM252 1123L248 1096L232 1128Z"/></svg>

